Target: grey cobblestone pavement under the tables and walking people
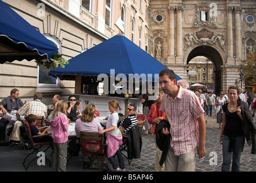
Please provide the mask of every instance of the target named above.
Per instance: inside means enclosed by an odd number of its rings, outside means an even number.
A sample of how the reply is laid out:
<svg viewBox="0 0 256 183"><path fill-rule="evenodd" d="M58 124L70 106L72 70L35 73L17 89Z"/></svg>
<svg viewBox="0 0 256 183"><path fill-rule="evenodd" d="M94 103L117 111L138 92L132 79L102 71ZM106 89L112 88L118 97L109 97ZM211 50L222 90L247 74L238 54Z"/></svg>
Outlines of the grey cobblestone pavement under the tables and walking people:
<svg viewBox="0 0 256 183"><path fill-rule="evenodd" d="M219 124L216 124L216 117L205 117L207 120L206 125L206 139L205 150L206 155L204 158L196 158L196 172L220 172L222 165L222 146L219 143ZM142 134L142 152L141 158L131 161L129 165L125 160L125 166L127 172L154 172L154 160L156 156L156 145L154 144L152 134ZM0 146L0 172L24 172L25 169L22 166L22 162L25 158L25 154L28 154L30 150L21 149L20 145L17 146ZM256 156L251 154L251 147L245 144L241 156L242 172L256 172ZM49 157L51 150L46 152L46 157ZM36 155L34 155L36 156ZM212 159L217 160L213 161ZM52 161L52 158L49 158ZM52 168L45 166L38 166L35 160L30 164L28 172L51 172ZM211 165L210 164L213 164ZM79 156L72 157L67 164L67 172L96 172L97 169L84 169L82 168L81 153Z"/></svg>

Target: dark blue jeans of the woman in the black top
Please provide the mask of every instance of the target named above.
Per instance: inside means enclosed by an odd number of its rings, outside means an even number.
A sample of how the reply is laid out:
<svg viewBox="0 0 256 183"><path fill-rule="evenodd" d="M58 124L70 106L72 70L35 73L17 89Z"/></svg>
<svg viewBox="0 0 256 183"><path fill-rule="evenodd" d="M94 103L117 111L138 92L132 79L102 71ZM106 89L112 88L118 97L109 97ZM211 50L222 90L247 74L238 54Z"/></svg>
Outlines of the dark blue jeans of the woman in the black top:
<svg viewBox="0 0 256 183"><path fill-rule="evenodd" d="M228 151L229 144L230 144L230 137L223 135L223 141L222 141L222 153L223 153L222 172L230 172L231 158L232 158L231 172L239 172L240 157L241 157L241 153L243 151L243 146L245 145L245 136L237 136L237 137L233 138L232 152Z"/></svg>

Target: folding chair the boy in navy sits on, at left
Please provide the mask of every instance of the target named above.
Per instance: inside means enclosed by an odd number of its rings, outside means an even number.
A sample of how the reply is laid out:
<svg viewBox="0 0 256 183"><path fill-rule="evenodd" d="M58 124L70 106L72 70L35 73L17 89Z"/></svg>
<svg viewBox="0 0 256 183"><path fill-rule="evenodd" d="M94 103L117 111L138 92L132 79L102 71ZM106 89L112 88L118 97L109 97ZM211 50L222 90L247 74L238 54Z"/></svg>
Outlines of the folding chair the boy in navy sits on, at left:
<svg viewBox="0 0 256 183"><path fill-rule="evenodd" d="M26 166L25 165L25 162L27 160L27 158L32 155L32 154L37 154L38 152L42 152L42 148L45 148L45 150L43 152L46 152L46 150L48 150L49 148L51 148L51 142L39 142L39 143L36 143L33 141L33 137L42 137L42 136L48 136L48 135L51 135L51 133L48 133L48 134L44 134L44 135L39 135L39 136L32 136L32 133L31 133L31 130L30 130L30 126L28 124L28 122L26 120L23 121L23 125L25 127L25 132L26 132L26 136L28 137L28 140L29 140L29 144L32 146L32 150L33 152L32 153L29 153L24 161L23 161L23 166L25 168L25 170L28 170L28 167L29 165L31 164L32 161L36 160L36 158L38 158L37 156L35 158L33 158L33 160L31 160L28 165ZM48 158L46 158L45 156L45 161L49 162L49 166L51 167L51 161L48 160Z"/></svg>

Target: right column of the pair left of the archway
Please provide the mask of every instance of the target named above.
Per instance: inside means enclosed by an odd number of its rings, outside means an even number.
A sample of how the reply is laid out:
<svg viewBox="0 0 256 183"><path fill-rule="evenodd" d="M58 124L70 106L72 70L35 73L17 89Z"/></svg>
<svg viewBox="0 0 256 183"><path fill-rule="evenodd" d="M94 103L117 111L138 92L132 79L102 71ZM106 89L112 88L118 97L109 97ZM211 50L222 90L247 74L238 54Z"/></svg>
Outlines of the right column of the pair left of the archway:
<svg viewBox="0 0 256 183"><path fill-rule="evenodd" d="M176 6L177 11L177 58L176 63L183 63L183 31L182 31L182 11L183 6Z"/></svg>

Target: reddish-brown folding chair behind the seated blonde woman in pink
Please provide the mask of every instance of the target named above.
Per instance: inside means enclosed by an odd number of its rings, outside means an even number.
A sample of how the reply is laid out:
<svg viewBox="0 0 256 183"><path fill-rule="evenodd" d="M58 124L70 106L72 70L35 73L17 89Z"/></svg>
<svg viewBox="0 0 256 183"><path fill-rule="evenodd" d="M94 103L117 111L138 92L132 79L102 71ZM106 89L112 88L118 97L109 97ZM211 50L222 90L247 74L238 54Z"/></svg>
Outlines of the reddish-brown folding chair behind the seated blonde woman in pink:
<svg viewBox="0 0 256 183"><path fill-rule="evenodd" d="M82 154L100 154L103 157L104 147L104 138L103 134L98 132L80 132L80 147ZM82 156L83 160L84 157ZM103 162L100 163L99 169L101 170Z"/></svg>

